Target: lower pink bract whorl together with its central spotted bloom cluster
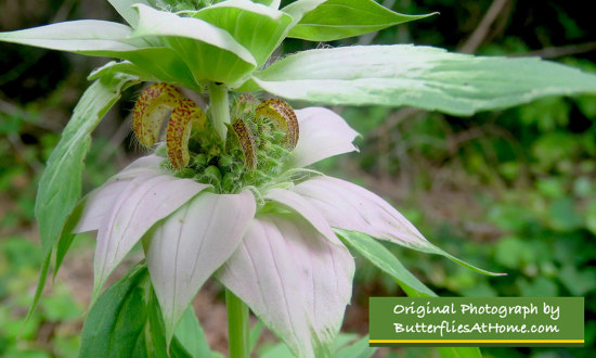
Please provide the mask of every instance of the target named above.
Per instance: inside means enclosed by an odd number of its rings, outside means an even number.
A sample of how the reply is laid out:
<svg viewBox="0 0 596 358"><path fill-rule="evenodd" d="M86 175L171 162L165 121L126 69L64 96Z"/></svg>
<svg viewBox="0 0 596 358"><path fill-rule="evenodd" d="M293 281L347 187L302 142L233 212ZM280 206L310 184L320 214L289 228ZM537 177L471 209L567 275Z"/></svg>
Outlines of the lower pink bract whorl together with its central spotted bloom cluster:
<svg viewBox="0 0 596 358"><path fill-rule="evenodd" d="M281 100L259 103L242 95L228 140L218 146L204 122L193 127L178 117L184 106L187 116L204 118L184 101L171 86L148 87L133 112L134 132L152 145L164 116L145 111L168 104L165 148L85 199L74 231L98 230L95 291L142 241L167 336L215 276L297 355L329 355L354 273L354 260L333 228L431 245L377 195L305 169L355 150L358 133L332 111L294 111ZM170 136L182 124L187 130ZM181 142L182 155L171 150Z"/></svg>

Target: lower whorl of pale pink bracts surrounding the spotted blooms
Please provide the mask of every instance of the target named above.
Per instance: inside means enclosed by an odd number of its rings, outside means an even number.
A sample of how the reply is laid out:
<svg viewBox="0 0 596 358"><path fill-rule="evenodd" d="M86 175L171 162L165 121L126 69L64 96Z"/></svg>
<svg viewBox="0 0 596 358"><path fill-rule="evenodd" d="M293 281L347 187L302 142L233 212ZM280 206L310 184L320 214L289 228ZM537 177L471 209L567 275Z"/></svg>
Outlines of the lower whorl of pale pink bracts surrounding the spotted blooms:
<svg viewBox="0 0 596 358"><path fill-rule="evenodd" d="M158 150L90 193L75 231L98 230L95 293L142 241L168 337L215 276L297 356L331 353L354 272L333 228L414 248L431 245L377 195L299 169L354 151L358 133L326 108L295 114L299 139L268 182L228 188L233 190L224 190L223 180L198 182L181 176L184 169L168 165Z"/></svg>

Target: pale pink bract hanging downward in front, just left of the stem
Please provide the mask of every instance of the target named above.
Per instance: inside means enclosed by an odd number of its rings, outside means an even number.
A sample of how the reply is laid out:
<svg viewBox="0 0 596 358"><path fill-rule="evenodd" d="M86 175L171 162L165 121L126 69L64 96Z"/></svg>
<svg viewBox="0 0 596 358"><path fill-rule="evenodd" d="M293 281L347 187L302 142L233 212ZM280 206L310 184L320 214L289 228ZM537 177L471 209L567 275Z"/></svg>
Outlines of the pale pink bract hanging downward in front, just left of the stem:
<svg viewBox="0 0 596 358"><path fill-rule="evenodd" d="M143 240L167 342L203 283L234 253L255 210L249 191L204 192Z"/></svg>

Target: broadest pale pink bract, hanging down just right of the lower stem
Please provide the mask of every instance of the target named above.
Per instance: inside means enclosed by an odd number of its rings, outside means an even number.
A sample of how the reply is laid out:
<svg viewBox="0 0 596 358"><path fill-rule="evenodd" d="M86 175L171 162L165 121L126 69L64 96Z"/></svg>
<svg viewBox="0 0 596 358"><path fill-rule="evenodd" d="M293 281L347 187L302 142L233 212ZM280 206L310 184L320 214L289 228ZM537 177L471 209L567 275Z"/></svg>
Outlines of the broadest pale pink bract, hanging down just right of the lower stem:
<svg viewBox="0 0 596 358"><path fill-rule="evenodd" d="M218 279L298 357L327 357L350 301L353 258L300 218L261 215Z"/></svg>

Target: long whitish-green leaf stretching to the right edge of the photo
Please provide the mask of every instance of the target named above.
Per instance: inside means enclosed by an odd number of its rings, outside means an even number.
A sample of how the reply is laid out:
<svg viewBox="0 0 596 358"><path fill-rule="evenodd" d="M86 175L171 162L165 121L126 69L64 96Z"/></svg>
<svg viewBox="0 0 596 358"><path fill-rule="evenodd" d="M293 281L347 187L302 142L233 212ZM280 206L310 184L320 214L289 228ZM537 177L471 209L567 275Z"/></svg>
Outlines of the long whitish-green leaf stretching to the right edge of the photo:
<svg viewBox="0 0 596 358"><path fill-rule="evenodd" d="M596 92L596 76L533 57L477 57L407 44L355 46L287 56L255 73L254 82L238 90L258 89L332 105L412 105L471 115L546 95Z"/></svg>

